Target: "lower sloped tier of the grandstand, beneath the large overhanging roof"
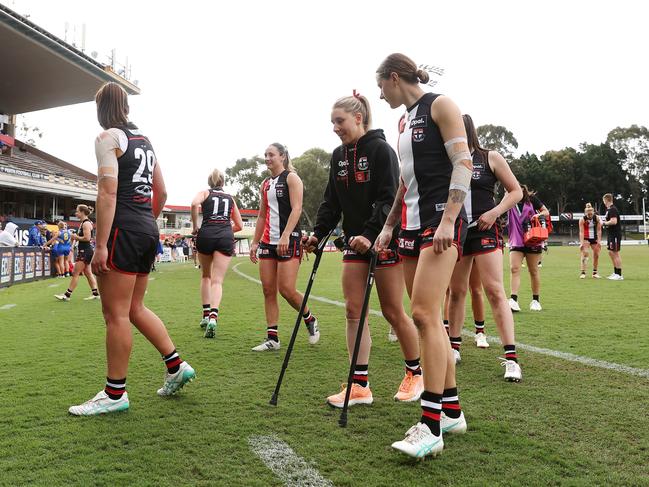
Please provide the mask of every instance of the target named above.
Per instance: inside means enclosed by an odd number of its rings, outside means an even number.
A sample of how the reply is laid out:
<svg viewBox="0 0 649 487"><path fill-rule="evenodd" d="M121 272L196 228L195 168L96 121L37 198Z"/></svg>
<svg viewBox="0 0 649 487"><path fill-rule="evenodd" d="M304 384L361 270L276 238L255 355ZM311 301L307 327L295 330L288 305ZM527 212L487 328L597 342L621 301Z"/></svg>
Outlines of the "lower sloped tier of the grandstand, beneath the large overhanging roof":
<svg viewBox="0 0 649 487"><path fill-rule="evenodd" d="M95 200L97 176L16 140L13 155L0 154L0 186L28 188Z"/></svg>

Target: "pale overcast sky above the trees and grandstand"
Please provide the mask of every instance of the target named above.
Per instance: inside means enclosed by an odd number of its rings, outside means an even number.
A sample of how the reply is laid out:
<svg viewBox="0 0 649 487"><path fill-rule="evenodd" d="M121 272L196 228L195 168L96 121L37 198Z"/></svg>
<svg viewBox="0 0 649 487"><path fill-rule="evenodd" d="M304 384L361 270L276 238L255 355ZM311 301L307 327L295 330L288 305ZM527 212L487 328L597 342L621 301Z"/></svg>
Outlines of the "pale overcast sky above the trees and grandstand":
<svg viewBox="0 0 649 487"><path fill-rule="evenodd" d="M519 152L649 125L645 2L0 1L61 37L67 21L70 42L85 23L100 61L112 48L128 57L142 89L131 119L156 148L170 204L274 141L293 156L333 150L331 105L353 89L396 144L401 110L379 99L374 77L392 52L443 67L431 90L477 125L506 126ZM94 104L25 118L45 133L40 148L96 172Z"/></svg>

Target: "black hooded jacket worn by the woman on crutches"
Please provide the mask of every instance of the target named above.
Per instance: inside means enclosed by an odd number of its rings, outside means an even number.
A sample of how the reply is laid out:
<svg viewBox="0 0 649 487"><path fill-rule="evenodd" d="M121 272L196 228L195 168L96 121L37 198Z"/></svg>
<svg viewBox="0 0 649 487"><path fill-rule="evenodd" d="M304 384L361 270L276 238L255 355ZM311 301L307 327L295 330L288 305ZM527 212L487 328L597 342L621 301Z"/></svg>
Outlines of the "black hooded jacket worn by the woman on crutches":
<svg viewBox="0 0 649 487"><path fill-rule="evenodd" d="M314 235L322 240L343 216L347 238L362 235L374 243L390 212L399 185L397 155L383 130L370 130L358 142L337 147L329 182L318 209Z"/></svg>

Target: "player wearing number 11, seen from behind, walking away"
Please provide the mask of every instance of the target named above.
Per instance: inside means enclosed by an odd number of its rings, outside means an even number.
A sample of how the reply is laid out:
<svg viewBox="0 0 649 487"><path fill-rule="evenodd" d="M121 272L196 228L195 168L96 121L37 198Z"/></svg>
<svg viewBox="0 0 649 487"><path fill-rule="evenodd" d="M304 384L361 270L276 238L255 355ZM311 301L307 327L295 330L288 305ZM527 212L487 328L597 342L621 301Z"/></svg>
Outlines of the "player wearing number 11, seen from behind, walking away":
<svg viewBox="0 0 649 487"><path fill-rule="evenodd" d="M192 234L196 236L201 263L201 299L205 338L214 338L223 295L223 278L234 255L234 233L243 228L241 213L234 198L223 191L225 176L214 169L207 178L209 189L200 191L192 201ZM199 207L203 222L198 226Z"/></svg>

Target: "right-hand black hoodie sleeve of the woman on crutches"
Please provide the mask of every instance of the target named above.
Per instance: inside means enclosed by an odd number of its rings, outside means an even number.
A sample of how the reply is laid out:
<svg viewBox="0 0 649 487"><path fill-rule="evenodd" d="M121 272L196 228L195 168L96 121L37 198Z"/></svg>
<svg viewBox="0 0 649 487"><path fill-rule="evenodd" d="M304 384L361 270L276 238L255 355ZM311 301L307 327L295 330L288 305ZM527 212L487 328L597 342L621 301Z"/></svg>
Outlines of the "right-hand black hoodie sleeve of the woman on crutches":
<svg viewBox="0 0 649 487"><path fill-rule="evenodd" d="M363 228L363 237L374 243L381 233L399 186L399 161L392 147L385 142L376 151L372 179L376 200L372 204L372 216Z"/></svg>

